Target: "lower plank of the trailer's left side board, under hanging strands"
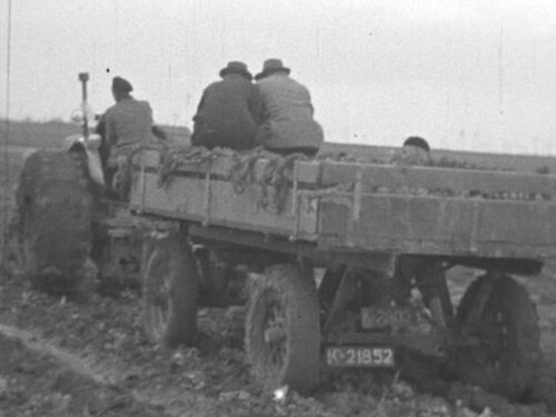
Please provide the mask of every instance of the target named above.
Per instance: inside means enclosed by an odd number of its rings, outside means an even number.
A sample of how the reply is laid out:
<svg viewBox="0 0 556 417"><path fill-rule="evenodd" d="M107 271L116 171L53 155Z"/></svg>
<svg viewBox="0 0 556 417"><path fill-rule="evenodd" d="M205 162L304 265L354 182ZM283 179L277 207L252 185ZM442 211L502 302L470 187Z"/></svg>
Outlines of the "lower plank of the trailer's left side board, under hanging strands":
<svg viewBox="0 0 556 417"><path fill-rule="evenodd" d="M258 203L259 193L250 187L242 193L234 190L229 181L211 180L209 187L202 178L177 177L163 187L158 186L158 175L145 172L145 187L140 176L135 181L131 203L143 212L163 214L170 218L192 219L206 224L227 225L240 229L272 231L284 236L296 234L308 238L316 232L316 200L299 199L299 210L294 212L291 195L284 210L276 214ZM207 192L210 197L207 199ZM208 202L208 206L207 206Z"/></svg>

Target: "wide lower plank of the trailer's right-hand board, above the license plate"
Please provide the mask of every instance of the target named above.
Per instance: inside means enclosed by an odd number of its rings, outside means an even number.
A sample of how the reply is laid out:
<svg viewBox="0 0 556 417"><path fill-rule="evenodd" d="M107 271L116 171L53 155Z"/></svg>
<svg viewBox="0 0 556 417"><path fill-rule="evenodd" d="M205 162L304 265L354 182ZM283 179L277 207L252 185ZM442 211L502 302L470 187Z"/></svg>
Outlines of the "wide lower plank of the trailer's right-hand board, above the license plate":
<svg viewBox="0 0 556 417"><path fill-rule="evenodd" d="M364 195L324 197L319 245L399 254L495 258L556 256L556 205Z"/></svg>

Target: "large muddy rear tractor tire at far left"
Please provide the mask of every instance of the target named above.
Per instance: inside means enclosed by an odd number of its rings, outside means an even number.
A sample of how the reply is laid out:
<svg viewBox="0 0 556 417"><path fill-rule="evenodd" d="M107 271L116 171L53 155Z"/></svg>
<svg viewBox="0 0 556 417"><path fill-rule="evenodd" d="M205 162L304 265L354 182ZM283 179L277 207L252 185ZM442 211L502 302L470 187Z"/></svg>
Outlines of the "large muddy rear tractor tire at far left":
<svg viewBox="0 0 556 417"><path fill-rule="evenodd" d="M63 151L34 151L23 165L16 198L23 276L50 294L92 289L95 199L79 158Z"/></svg>

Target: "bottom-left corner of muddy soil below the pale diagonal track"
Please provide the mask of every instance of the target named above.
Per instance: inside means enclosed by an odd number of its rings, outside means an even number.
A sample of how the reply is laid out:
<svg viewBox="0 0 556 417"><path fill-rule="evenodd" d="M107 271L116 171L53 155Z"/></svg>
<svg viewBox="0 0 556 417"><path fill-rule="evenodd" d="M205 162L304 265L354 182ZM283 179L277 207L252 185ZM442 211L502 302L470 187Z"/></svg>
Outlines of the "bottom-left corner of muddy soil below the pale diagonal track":
<svg viewBox="0 0 556 417"><path fill-rule="evenodd" d="M158 416L129 389L79 374L59 358L0 335L0 416Z"/></svg>

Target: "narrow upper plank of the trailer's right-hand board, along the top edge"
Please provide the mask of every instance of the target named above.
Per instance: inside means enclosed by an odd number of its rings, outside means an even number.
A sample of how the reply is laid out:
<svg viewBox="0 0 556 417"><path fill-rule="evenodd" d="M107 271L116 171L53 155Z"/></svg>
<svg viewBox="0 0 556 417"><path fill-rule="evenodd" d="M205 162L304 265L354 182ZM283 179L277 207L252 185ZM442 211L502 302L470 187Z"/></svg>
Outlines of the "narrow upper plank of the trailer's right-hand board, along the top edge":
<svg viewBox="0 0 556 417"><path fill-rule="evenodd" d="M516 171L485 171L437 167L399 167L381 165L355 165L327 162L322 166L321 186L350 187L360 170L364 190L386 187L396 190L407 187L428 190L450 190L455 193L480 191L486 193L515 192L529 195L556 195L555 175L535 175Z"/></svg>

